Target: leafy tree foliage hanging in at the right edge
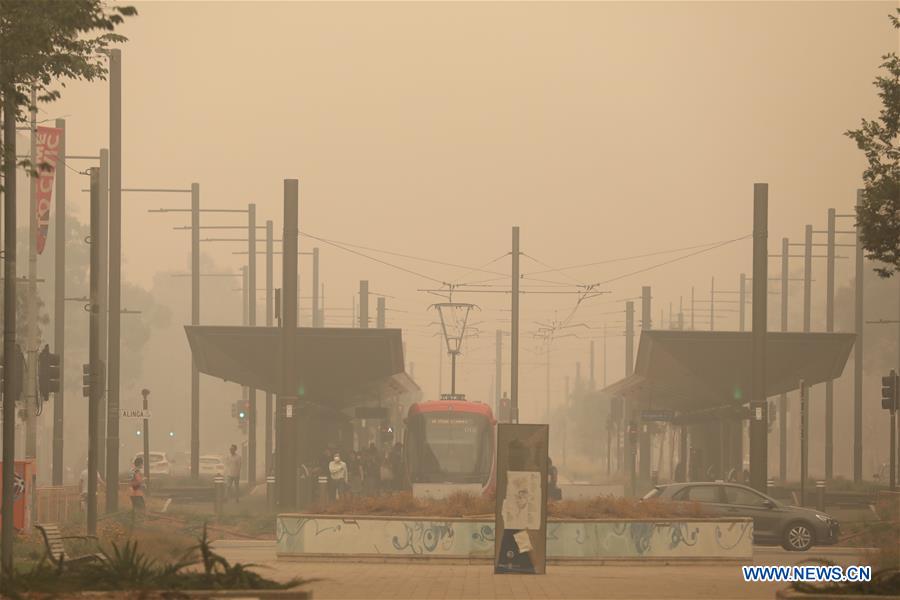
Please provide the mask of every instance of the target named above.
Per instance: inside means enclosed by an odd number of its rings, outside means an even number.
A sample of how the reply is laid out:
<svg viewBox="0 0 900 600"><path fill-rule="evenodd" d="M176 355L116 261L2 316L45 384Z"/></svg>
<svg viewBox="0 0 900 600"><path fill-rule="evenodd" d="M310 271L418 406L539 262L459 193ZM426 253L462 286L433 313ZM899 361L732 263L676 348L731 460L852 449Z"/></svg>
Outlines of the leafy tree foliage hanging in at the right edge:
<svg viewBox="0 0 900 600"><path fill-rule="evenodd" d="M889 17L894 28L900 29L897 15ZM869 162L863 172L865 197L857 209L863 247L870 259L885 263L875 271L890 277L900 272L900 57L891 52L881 58L885 73L874 82L883 104L881 113L877 120L863 119L859 129L845 135Z"/></svg>

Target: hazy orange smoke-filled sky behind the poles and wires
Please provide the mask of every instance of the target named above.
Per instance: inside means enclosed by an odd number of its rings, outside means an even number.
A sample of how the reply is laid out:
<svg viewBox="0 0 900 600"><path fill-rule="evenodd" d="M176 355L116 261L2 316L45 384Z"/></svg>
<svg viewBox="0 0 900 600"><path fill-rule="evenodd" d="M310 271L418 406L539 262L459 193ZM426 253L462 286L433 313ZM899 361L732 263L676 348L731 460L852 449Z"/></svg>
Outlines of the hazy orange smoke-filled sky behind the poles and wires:
<svg viewBox="0 0 900 600"><path fill-rule="evenodd" d="M554 267L740 237L750 233L754 182L769 184L777 252L782 236L800 240L804 224L824 226L827 208L850 211L864 160L842 133L877 115L872 80L898 45L887 19L896 2L134 4L139 17L122 28L127 187L199 182L204 206L256 202L259 222L274 219L280 232L282 179L296 177L303 231L471 266L508 252L513 225L522 250ZM104 83L71 85L41 118L66 116L70 152L95 153L108 143L107 106ZM77 179L69 203L85 218ZM126 278L149 286L157 271L186 271L189 235L171 229L186 219L146 210L187 197L125 201ZM392 296L389 308L408 311L390 313L388 325L418 327L405 336L408 357L435 394L438 340L425 325L436 298L417 291L434 282L301 240L304 250L313 245L322 248L326 309L348 309L368 279ZM231 250L242 249L204 248L233 269L245 257ZM465 273L364 252L439 281ZM676 256L539 277L602 282ZM586 302L573 322L609 322L619 334L621 315L604 313L622 303L611 301L651 285L658 320L669 302L688 301L691 286L708 298L711 277L736 289L750 260L747 240L622 278L601 286L611 294ZM508 273L509 258L489 269ZM546 268L523 258L522 270ZM851 270L852 261L839 263L839 286ZM466 280L490 277L482 275ZM824 285L813 294L822 328ZM478 397L491 385L494 330L508 328L500 309L509 296L457 298L484 309L459 375L460 389ZM526 418L544 405L533 322L565 317L574 301L523 298ZM349 311L326 318L348 324ZM733 313L722 319L736 328ZM587 369L587 344L554 347L555 391L576 360ZM609 342L610 381L623 372L621 344Z"/></svg>

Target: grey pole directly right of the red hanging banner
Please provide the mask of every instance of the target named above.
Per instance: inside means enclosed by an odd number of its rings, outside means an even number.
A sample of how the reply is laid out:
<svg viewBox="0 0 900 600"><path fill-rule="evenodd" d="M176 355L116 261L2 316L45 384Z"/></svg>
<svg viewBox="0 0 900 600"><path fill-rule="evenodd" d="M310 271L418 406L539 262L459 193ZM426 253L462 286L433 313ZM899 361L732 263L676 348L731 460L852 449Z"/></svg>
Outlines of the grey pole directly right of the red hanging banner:
<svg viewBox="0 0 900 600"><path fill-rule="evenodd" d="M59 159L56 163L56 217L54 232L56 255L54 256L53 282L53 345L59 355L59 391L53 397L53 474L54 486L63 484L63 431L65 417L65 367L66 367L66 121L57 119L56 127L62 129L59 138Z"/></svg>

